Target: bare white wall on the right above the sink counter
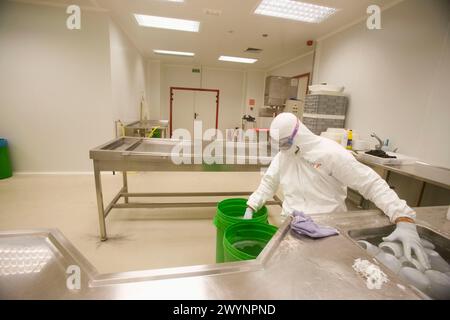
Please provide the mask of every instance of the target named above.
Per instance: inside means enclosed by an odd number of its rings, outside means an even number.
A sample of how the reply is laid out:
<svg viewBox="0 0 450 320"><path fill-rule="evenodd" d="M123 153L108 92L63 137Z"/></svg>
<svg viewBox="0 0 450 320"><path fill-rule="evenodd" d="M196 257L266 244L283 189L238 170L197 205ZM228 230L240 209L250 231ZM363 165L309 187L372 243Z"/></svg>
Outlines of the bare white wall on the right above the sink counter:
<svg viewBox="0 0 450 320"><path fill-rule="evenodd" d="M314 83L344 85L348 127L389 138L399 152L450 167L448 0L406 0L318 42Z"/></svg>

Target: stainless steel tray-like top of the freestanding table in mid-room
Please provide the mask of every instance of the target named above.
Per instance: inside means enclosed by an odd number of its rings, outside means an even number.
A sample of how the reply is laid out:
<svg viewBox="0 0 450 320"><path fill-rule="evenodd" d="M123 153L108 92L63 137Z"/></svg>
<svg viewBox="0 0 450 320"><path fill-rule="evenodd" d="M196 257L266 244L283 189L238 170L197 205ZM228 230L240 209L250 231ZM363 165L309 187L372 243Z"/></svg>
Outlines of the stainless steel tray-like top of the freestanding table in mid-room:
<svg viewBox="0 0 450 320"><path fill-rule="evenodd" d="M215 163L215 158L210 158L212 156L204 152L212 143L218 143L223 148L221 153L223 164ZM94 165L97 161L100 171L260 171L262 167L269 166L272 160L269 144L259 145L254 142L230 144L233 152L229 156L227 151L230 146L224 140L187 141L120 137L91 149L89 157L94 160ZM261 152L263 150L265 152ZM175 164L172 156L186 158L188 164Z"/></svg>

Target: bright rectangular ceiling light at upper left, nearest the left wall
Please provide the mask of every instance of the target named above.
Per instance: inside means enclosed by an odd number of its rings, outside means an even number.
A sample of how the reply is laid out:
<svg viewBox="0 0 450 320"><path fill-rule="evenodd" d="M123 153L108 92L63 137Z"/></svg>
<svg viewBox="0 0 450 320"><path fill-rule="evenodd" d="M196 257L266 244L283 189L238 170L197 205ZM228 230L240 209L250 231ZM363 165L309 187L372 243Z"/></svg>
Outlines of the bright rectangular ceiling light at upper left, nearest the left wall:
<svg viewBox="0 0 450 320"><path fill-rule="evenodd" d="M161 28L179 31L198 32L200 22L175 18L147 16L145 14L134 14L140 26L150 28Z"/></svg>

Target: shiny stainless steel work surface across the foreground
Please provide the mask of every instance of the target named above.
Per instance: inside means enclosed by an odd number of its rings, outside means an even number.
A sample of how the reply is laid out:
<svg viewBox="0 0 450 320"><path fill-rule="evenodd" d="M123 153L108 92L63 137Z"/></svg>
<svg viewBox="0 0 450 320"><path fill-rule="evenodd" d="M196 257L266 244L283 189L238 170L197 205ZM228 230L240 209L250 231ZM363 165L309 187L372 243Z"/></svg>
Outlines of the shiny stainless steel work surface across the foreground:
<svg viewBox="0 0 450 320"><path fill-rule="evenodd" d="M447 241L448 207L417 208L419 229ZM290 231L288 218L256 260L100 274L58 230L3 231L2 260L16 250L15 268L0 274L1 299L427 299L385 269L356 243L391 228L378 210L313 215L340 235L311 240ZM448 248L445 248L448 250ZM19 256L18 256L19 255ZM379 265L388 281L369 289L352 267L356 259ZM29 261L30 259L26 259ZM37 262L37 263L35 263ZM72 281L78 275L77 281ZM69 273L67 273L67 271Z"/></svg>

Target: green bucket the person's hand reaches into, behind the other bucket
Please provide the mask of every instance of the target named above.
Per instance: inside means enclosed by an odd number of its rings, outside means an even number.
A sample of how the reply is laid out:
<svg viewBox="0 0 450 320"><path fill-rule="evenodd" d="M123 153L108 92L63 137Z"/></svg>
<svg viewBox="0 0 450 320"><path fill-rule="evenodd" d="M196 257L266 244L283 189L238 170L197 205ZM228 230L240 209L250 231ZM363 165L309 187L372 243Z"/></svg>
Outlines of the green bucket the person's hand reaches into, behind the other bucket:
<svg viewBox="0 0 450 320"><path fill-rule="evenodd" d="M224 262L223 235L225 230L236 223L242 222L245 210L247 209L246 199L226 199L217 205L214 225L217 228L216 233L216 263ZM253 214L253 218L245 220L248 223L267 224L268 211L265 206Z"/></svg>

